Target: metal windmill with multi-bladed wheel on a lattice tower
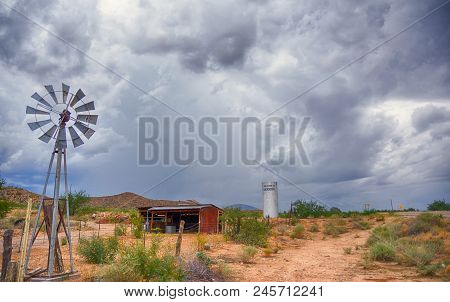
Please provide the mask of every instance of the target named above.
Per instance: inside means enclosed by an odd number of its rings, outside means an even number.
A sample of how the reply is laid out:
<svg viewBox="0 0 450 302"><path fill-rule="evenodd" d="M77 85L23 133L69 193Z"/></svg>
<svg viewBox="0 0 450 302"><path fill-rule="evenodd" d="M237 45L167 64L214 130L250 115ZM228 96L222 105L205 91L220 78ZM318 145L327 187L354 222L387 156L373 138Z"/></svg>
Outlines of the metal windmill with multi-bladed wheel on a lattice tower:
<svg viewBox="0 0 450 302"><path fill-rule="evenodd" d="M62 89L55 91L52 85L45 86L47 94L44 96L35 92L31 97L36 101L34 107L27 106L27 123L32 131L40 130L39 139L45 143L54 140L53 152L50 157L44 188L40 196L40 202L33 231L28 243L25 258L25 273L28 269L33 244L45 225L48 238L47 268L34 270L33 275L46 272L43 278L55 278L75 274L72 256L72 239L70 236L70 211L68 200L67 181L67 130L69 131L74 148L84 144L81 133L86 139L90 139L95 131L91 125L97 124L98 115L91 114L95 110L94 102L83 101L85 94L81 89L72 94L70 87L62 84ZM56 163L54 164L56 157ZM63 170L61 170L63 169ZM54 171L54 172L53 172ZM61 171L64 176L64 194L60 195ZM50 175L54 173L53 196L46 197L47 185ZM63 196L63 198L60 198ZM41 212L43 219L41 220ZM65 215L64 215L65 212ZM64 216L65 219L64 219ZM58 232L64 229L67 243L69 245L70 271L66 272L63 264L61 247L59 245Z"/></svg>

